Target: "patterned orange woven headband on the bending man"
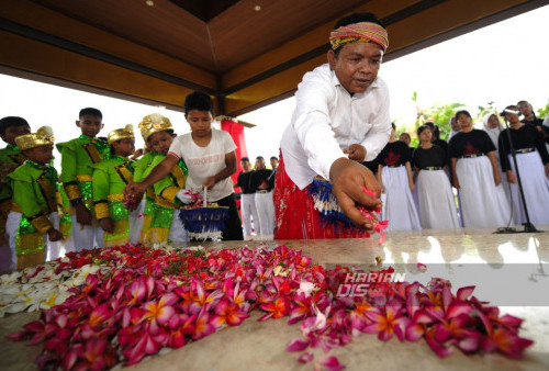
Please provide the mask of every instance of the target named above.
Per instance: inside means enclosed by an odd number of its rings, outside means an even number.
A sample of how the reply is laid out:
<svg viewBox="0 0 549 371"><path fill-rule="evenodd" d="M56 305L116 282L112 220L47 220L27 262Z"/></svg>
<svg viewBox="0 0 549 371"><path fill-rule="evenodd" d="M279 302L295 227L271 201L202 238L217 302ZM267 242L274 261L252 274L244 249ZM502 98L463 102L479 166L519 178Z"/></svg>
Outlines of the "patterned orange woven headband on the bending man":
<svg viewBox="0 0 549 371"><path fill-rule="evenodd" d="M349 43L376 43L384 53L389 46L389 37L385 29L372 22L343 25L329 34L329 44L334 50Z"/></svg>

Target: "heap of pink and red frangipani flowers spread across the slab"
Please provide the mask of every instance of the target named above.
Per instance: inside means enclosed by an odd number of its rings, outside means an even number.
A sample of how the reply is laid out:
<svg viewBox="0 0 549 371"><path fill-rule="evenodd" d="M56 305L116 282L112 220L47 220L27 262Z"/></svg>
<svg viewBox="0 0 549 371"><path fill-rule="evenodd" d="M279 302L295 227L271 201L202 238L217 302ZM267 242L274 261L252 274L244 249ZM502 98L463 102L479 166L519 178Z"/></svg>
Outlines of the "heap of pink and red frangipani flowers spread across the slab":
<svg viewBox="0 0 549 371"><path fill-rule="evenodd" d="M327 352L365 333L383 341L425 339L439 357L459 349L518 358L533 344L518 336L522 319L500 316L496 307L472 296L473 286L452 294L441 279L427 285L384 282L383 274L393 272L389 267L377 272L380 279L370 281L362 294L343 296L338 288L349 274L365 272L312 265L283 245L272 250L126 245L70 254L53 274L74 278L92 266L98 269L67 289L71 295L63 303L10 335L44 344L36 360L41 369L134 364L163 348L180 348L224 326L238 326L255 310L265 313L259 321L301 323L301 336L288 351L301 352L296 360L304 363L314 361L311 349ZM36 268L34 277L43 271ZM335 357L317 360L316 367L344 368Z"/></svg>

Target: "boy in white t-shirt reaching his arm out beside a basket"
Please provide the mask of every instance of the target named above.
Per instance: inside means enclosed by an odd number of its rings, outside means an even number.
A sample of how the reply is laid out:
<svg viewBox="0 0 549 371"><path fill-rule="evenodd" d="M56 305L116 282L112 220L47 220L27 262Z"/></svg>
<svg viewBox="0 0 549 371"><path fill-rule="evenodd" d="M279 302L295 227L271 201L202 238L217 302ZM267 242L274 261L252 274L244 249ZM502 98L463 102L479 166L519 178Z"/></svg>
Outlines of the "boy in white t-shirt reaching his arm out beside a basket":
<svg viewBox="0 0 549 371"><path fill-rule="evenodd" d="M145 190L166 177L182 158L189 169L186 189L208 189L208 201L228 206L229 218L222 231L223 240L243 240L242 222L236 207L231 176L236 172L236 145L227 132L212 128L213 102L206 93L194 91L184 100L184 117L191 133L173 139L168 156L139 183L124 189L126 198L139 198Z"/></svg>

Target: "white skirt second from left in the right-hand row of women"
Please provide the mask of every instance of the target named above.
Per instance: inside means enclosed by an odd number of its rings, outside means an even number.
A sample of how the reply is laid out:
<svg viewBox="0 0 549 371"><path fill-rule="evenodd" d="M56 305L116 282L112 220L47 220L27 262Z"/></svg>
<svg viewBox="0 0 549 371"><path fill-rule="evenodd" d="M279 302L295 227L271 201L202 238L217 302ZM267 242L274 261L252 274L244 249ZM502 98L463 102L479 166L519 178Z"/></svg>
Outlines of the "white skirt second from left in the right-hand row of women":
<svg viewBox="0 0 549 371"><path fill-rule="evenodd" d="M424 228L460 227L453 193L444 170L421 170L417 175L416 191Z"/></svg>

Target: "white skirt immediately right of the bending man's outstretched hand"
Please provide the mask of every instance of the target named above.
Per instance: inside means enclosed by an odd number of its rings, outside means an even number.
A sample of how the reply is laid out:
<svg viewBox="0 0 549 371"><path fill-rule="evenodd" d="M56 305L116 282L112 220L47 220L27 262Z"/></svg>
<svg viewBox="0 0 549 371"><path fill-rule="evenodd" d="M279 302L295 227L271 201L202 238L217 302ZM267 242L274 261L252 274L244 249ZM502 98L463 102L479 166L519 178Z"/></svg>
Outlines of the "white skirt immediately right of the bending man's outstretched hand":
<svg viewBox="0 0 549 371"><path fill-rule="evenodd" d="M381 217L389 221L388 231L421 229L419 217L410 191L406 167L383 167L381 172L385 187L385 201Z"/></svg>

